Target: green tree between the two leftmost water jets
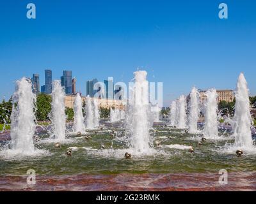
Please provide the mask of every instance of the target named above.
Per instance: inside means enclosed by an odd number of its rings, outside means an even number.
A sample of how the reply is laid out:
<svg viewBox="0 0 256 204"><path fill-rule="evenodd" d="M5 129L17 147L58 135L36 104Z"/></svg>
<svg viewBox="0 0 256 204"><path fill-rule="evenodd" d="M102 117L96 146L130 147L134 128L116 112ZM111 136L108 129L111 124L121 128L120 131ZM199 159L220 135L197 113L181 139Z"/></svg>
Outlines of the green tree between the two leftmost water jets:
<svg viewBox="0 0 256 204"><path fill-rule="evenodd" d="M44 93L38 94L36 97L36 120L49 120L49 113L51 112L51 95Z"/></svg>

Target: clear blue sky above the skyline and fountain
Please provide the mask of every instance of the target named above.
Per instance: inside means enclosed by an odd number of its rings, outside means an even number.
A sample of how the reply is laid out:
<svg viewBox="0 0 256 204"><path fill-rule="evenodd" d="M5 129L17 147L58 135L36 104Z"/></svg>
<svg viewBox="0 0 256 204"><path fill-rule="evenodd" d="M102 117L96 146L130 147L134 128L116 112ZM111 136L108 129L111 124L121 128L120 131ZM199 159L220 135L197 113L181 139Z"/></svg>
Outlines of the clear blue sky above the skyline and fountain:
<svg viewBox="0 0 256 204"><path fill-rule="evenodd" d="M228 5L228 19L218 5ZM36 4L36 19L26 5ZM78 1L0 3L0 98L15 80L52 69L86 80L129 82L138 68L163 82L164 105L195 85L234 89L241 71L256 94L256 1Z"/></svg>

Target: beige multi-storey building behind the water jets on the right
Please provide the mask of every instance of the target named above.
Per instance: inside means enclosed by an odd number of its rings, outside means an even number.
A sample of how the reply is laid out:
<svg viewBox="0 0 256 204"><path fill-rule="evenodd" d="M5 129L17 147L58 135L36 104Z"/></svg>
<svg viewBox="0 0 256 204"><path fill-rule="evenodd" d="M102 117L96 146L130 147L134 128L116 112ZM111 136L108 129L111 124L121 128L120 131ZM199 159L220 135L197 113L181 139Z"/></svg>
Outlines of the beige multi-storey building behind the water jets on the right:
<svg viewBox="0 0 256 204"><path fill-rule="evenodd" d="M204 101L207 99L205 96L206 91L200 91L200 101L204 103ZM233 90L216 90L218 94L217 101L220 103L220 101L227 101L232 102L234 101L234 91Z"/></svg>

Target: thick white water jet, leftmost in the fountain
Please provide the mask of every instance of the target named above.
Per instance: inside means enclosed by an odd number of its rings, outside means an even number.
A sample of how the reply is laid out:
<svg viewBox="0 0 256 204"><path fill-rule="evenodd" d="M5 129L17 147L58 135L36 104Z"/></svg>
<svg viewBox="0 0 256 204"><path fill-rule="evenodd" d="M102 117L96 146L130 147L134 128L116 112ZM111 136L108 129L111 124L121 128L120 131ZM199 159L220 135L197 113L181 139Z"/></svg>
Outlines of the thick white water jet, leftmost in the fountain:
<svg viewBox="0 0 256 204"><path fill-rule="evenodd" d="M13 94L11 149L19 154L35 152L35 103L36 95L32 92L31 81L25 77L18 80Z"/></svg>

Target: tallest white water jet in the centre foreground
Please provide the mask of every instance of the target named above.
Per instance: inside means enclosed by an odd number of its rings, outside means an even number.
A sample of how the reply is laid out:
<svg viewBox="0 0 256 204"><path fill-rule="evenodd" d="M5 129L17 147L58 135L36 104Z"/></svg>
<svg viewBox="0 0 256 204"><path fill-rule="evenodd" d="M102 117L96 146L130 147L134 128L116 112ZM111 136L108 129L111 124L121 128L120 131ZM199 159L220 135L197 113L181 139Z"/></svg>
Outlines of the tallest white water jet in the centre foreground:
<svg viewBox="0 0 256 204"><path fill-rule="evenodd" d="M146 71L134 72L134 85L129 94L127 134L129 146L136 154L150 152L149 101ZM131 87L130 87L131 88Z"/></svg>

